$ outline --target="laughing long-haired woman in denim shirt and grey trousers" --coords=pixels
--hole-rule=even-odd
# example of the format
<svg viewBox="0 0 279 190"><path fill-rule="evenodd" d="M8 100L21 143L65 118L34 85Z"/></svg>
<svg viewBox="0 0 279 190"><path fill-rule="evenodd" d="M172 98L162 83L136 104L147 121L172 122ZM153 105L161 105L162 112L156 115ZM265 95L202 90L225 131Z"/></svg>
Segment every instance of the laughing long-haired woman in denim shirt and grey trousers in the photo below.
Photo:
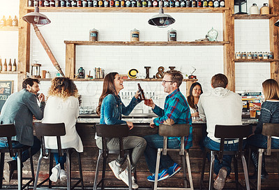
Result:
<svg viewBox="0 0 279 190"><path fill-rule="evenodd" d="M130 101L129 105L126 107L120 96L118 95L121 89L123 89L123 79L118 73L108 73L105 76L103 83L103 92L99 99L99 104L96 112L100 115L100 124L127 124L130 129L133 129L132 122L123 121L121 115L129 115L133 111L137 103L140 103L140 92L138 91L135 96ZM96 138L96 145L102 148L102 138ZM132 172L135 169L137 161L144 153L146 147L146 140L138 136L128 136L123 138L123 148L133 149L132 152ZM111 138L107 140L108 149L119 149L119 139ZM121 159L120 156L109 163L115 177L122 180L128 185L128 171L124 170L121 172L121 165L124 163L125 159ZM132 177L132 187L137 189L138 185L135 183L135 178Z"/></svg>

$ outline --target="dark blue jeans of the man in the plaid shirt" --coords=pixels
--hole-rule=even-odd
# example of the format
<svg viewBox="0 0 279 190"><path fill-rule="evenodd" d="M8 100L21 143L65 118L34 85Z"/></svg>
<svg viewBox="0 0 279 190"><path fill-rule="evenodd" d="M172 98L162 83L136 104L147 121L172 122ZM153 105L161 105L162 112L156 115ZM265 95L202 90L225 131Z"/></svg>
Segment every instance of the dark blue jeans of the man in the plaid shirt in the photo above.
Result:
<svg viewBox="0 0 279 190"><path fill-rule="evenodd" d="M147 143L146 149L144 150L145 160L147 166L149 167L149 171L151 173L155 173L157 149L163 148L163 136L159 136L158 134L155 134L151 136L144 136L144 139L146 140ZM180 148L180 140L178 140L177 138L168 139L167 148L173 148L173 149ZM173 165L174 165L174 161L171 159L171 157L168 154L166 156L163 156L163 154L161 153L159 173L163 169L167 169Z"/></svg>

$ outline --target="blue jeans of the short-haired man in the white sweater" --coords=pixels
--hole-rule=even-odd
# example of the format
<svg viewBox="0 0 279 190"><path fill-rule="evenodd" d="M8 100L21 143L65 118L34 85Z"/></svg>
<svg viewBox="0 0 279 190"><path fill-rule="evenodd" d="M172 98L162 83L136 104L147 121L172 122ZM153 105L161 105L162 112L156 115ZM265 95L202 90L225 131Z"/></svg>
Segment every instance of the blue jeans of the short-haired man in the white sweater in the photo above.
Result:
<svg viewBox="0 0 279 190"><path fill-rule="evenodd" d="M243 147L246 144L246 140L243 140ZM210 138L208 138L206 136L206 138L204 138L204 146L207 147L208 149L212 149L212 150L220 150L220 143L219 142L215 142L214 140L211 140ZM239 142L237 143L232 143L232 144L226 144L224 145L224 151L237 151L239 149ZM209 154L207 154L208 158L209 158ZM215 156L215 160L214 160L214 173L216 173L216 175L218 175L219 170L223 167L225 167L227 169L227 175L229 175L229 173L231 173L231 164L232 164L232 155L223 155L223 162L220 163L220 161L218 160L218 157Z"/></svg>

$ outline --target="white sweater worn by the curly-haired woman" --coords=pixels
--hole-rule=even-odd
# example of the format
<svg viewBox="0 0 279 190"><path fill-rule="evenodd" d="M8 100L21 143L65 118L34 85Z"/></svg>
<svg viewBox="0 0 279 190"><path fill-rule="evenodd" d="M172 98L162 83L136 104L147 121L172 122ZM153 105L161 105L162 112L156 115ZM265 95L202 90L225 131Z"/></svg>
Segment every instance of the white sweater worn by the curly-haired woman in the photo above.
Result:
<svg viewBox="0 0 279 190"><path fill-rule="evenodd" d="M61 136L62 148L75 148L77 152L83 152L83 145L80 136L75 129L75 123L79 116L79 102L74 96L66 100L57 96L47 98L45 105L43 123L64 123L66 136ZM56 137L45 137L45 147L56 149Z"/></svg>

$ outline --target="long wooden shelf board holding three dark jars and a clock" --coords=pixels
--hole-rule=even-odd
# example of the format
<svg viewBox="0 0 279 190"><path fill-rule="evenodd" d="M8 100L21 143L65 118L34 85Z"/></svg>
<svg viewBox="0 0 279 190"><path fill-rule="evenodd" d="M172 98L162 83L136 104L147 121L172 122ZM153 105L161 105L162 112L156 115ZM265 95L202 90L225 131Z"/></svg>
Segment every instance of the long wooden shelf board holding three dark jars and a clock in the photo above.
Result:
<svg viewBox="0 0 279 190"><path fill-rule="evenodd" d="M64 43L75 45L137 45L137 46L188 46L188 45L225 45L226 41L64 41Z"/></svg>

